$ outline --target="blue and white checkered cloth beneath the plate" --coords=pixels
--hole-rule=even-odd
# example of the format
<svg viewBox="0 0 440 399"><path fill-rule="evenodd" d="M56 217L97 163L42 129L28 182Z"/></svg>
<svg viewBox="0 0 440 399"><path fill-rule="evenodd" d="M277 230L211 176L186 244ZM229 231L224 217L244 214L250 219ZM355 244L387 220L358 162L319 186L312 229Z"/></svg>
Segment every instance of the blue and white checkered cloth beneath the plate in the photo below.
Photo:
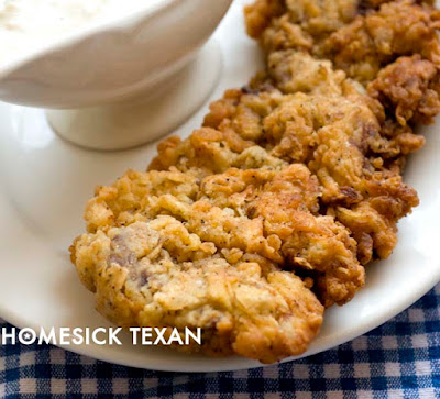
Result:
<svg viewBox="0 0 440 399"><path fill-rule="evenodd" d="M253 370L157 373L50 345L0 345L0 397L440 398L440 285L404 313L350 343Z"/></svg>

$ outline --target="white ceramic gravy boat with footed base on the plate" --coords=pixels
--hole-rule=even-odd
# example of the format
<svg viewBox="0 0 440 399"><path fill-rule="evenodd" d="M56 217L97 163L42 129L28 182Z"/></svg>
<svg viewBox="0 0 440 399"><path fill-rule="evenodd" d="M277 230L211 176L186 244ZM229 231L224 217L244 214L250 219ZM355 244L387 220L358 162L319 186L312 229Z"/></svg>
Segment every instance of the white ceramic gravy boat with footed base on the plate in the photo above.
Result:
<svg viewBox="0 0 440 399"><path fill-rule="evenodd" d="M153 0L0 66L0 100L51 109L58 134L121 149L188 118L217 82L215 44L199 49L232 0Z"/></svg>

